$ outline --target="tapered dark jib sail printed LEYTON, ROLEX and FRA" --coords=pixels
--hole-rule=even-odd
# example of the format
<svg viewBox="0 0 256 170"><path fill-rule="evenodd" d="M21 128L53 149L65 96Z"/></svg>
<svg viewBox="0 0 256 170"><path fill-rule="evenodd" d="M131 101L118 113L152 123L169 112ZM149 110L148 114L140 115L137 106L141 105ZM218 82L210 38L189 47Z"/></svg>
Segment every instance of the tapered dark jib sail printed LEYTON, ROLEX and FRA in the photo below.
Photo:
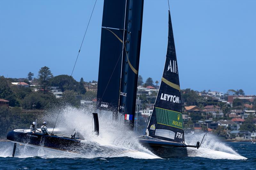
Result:
<svg viewBox="0 0 256 170"><path fill-rule="evenodd" d="M150 137L178 143L184 142L180 81L170 11L164 73L147 131Z"/></svg>

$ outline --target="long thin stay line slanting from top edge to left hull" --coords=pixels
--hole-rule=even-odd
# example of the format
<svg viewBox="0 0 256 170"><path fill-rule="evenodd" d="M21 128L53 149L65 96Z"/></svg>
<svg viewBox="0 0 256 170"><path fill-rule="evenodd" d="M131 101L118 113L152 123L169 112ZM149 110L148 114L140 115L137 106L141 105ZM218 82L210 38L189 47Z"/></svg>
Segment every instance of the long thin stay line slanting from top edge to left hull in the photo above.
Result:
<svg viewBox="0 0 256 170"><path fill-rule="evenodd" d="M92 9L92 13L93 13L93 11L94 11L94 7L95 7L96 2L97 2L97 0L96 0L95 3L94 3L93 9ZM88 24L87 24L87 27L86 27L86 30L85 30L85 33L84 33L84 37L85 37L85 35L86 35L88 26L89 26L89 24L90 24L90 21L91 21L91 18L92 18L92 13L91 13L89 22L88 22ZM80 48L79 48L78 54L77 54L77 56L76 56L76 62L77 62L78 56L79 56L79 54L80 54L80 50L81 50L82 45L83 45L83 42L84 42L84 37L83 37L83 41L82 41L82 43L81 43L81 46L80 46ZM70 75L70 79L69 79L69 82L68 82L68 87L69 87L69 85L70 85L70 83L71 83L71 79L72 79L72 75L73 75L73 72L74 72L74 69L75 69L75 66L76 66L76 62L75 62L75 64L74 64L72 73L71 73L71 75ZM63 96L63 98L62 98L62 103L60 104L59 112L58 112L58 115L57 115L55 124L54 124L54 126L53 126L53 129L52 129L52 134L53 134L53 130L54 130L55 126L56 126L56 122L57 122L58 117L59 117L59 114L60 114L60 109L62 108L62 105L63 105L63 103L64 103L64 99L65 99L65 97L66 97L68 87L67 87L67 89L66 89L66 91L65 91L65 94L64 94L64 96Z"/></svg>

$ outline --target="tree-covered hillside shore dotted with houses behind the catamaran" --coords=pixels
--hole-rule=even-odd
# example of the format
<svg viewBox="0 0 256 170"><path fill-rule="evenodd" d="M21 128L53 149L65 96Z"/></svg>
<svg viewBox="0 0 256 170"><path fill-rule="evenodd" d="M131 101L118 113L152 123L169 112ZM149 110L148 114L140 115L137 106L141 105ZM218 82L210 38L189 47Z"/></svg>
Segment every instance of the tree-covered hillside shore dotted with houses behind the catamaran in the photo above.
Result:
<svg viewBox="0 0 256 170"><path fill-rule="evenodd" d="M45 113L56 110L61 104L78 109L87 106L82 101L95 104L97 81L85 82L81 78L77 82L68 75L53 76L50 68L46 66L38 71L36 78L33 76L34 73L31 72L28 73L27 78L5 78L0 76L0 100L8 101L5 104L0 104L1 139L6 137L7 132L13 129L29 129L31 122L36 119L38 122L42 121L41 119ZM138 84L141 85L140 91L144 88L143 93L137 95L137 98L141 101L140 109L152 109L159 82L154 83L152 78L147 78L144 83L143 78L139 75ZM138 93L140 92L137 91ZM245 112L244 110L256 110L256 98L250 100L239 99L239 96L245 95L242 89L228 90L227 93L223 94L222 100L209 96L210 93L211 90L202 92L191 89L181 90L182 113L187 115L186 119L183 118L184 129L213 133L222 140L227 137L227 131L230 132L234 129L217 125L217 128L212 128L209 131L208 123L209 121L216 123L220 120L231 121L234 117L230 117L230 113L234 112L235 117L240 116L244 121L240 123L239 130L256 131L255 113L247 114L247 117L244 118L241 113L236 113L238 111ZM232 103L227 102L228 96L232 95L237 97ZM63 96L65 96L65 100L63 100ZM193 109L190 111L188 109L190 107L196 108L197 111ZM211 110L208 112L207 109L213 109L215 112ZM218 117L218 115L221 115L221 117ZM145 119L149 119L149 117L145 117L141 112L138 113L138 129L145 130ZM196 128L199 128L200 131L196 131ZM230 140L230 137L226 140Z"/></svg>

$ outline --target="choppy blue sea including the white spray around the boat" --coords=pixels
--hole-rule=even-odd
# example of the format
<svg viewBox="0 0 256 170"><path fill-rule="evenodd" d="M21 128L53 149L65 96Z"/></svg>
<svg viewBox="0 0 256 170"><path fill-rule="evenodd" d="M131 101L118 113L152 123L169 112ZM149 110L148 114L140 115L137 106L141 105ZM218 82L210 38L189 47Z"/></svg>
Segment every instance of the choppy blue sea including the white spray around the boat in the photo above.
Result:
<svg viewBox="0 0 256 170"><path fill-rule="evenodd" d="M88 108L87 108L88 109ZM93 109L93 108L92 108ZM47 151L17 145L12 158L12 142L0 142L0 169L255 169L256 144L251 142L221 142L207 134L199 149L188 148L187 157L161 159L141 146L137 134L127 131L122 123L113 123L99 115L100 135L93 133L91 110L67 107L61 111L57 127L76 128L85 141L97 147L81 154ZM51 124L56 114L49 112L44 120ZM187 144L195 145L204 134L185 134Z"/></svg>

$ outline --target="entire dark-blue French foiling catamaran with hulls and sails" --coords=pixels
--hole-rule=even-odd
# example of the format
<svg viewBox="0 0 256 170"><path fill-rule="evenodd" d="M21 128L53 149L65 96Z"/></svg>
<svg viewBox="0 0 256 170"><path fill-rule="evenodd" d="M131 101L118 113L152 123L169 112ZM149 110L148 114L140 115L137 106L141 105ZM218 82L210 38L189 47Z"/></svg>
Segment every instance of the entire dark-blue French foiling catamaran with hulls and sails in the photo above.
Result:
<svg viewBox="0 0 256 170"><path fill-rule="evenodd" d="M143 0L105 0L103 7L96 112L111 114L114 121L122 120L128 130L134 127L143 3ZM185 144L178 73L169 10L164 72L146 134L138 137L143 146L160 157L186 155L187 147L200 147L199 142ZM97 113L93 113L94 129L99 134ZM52 136L15 129L8 133L7 139L15 143L13 156L16 143L32 147L43 144L48 149L68 152L96 145L65 136L61 129L55 129Z"/></svg>

